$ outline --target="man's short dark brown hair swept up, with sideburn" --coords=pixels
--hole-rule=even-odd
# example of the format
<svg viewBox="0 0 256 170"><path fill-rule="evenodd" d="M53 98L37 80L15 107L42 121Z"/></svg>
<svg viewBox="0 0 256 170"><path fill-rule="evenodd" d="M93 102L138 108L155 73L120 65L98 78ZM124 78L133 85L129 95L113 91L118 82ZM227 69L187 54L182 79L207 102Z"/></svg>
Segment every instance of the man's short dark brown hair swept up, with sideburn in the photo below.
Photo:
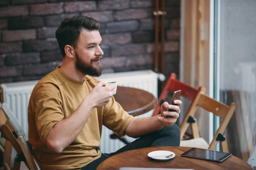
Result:
<svg viewBox="0 0 256 170"><path fill-rule="evenodd" d="M88 31L99 31L99 26L100 23L91 17L74 16L65 18L55 32L62 56L65 57L64 47L66 45L71 45L76 48L79 35L83 29Z"/></svg>

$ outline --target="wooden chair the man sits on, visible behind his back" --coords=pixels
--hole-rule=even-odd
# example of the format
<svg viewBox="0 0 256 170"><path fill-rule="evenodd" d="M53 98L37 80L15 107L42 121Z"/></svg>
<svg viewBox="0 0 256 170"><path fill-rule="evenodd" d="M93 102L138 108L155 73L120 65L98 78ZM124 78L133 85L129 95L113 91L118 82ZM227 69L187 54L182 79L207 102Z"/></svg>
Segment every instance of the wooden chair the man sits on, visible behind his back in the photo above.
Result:
<svg viewBox="0 0 256 170"><path fill-rule="evenodd" d="M3 135L3 137L6 139L6 141L9 141L17 151L17 156L15 157L13 170L20 170L20 163L22 161L26 164L29 170L38 170L38 167L35 164L35 161L32 157L31 152L30 151L28 152L29 147L27 143L24 144L23 142L25 141L23 136L16 137L16 135L12 133L12 131L7 125L2 125L0 127L0 132ZM10 167L7 165L6 169L10 170Z"/></svg>

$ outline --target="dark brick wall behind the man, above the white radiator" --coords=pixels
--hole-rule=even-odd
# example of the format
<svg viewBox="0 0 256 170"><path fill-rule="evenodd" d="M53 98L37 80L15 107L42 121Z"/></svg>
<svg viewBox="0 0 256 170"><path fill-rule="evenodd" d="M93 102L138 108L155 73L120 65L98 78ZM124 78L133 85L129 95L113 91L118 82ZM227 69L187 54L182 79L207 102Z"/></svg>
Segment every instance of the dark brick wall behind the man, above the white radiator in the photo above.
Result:
<svg viewBox="0 0 256 170"><path fill-rule="evenodd" d="M40 79L61 63L65 17L101 22L103 72L154 68L153 0L0 0L0 83ZM166 76L179 70L180 0L166 0Z"/></svg>

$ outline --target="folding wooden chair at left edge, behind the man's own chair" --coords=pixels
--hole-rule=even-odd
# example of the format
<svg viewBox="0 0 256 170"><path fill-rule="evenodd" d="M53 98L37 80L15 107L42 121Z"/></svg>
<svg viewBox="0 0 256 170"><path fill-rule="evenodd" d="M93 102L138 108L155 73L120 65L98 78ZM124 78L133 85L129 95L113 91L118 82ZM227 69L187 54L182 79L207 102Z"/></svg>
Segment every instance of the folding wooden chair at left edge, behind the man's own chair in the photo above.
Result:
<svg viewBox="0 0 256 170"><path fill-rule="evenodd" d="M13 116L12 111L9 109L6 103L3 103L2 108L0 108L0 127L2 127L2 125L7 125L16 138L19 136L19 134L25 135L22 127L20 127L17 119ZM9 140L5 140L5 144L3 144L1 150L3 150L3 167L8 169L10 168L12 157L12 144Z"/></svg>

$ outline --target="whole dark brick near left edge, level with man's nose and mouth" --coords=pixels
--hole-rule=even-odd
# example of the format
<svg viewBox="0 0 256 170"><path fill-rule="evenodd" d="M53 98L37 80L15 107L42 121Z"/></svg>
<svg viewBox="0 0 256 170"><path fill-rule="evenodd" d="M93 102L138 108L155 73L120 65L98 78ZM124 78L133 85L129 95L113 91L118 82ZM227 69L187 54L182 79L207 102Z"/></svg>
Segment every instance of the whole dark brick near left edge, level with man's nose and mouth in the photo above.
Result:
<svg viewBox="0 0 256 170"><path fill-rule="evenodd" d="M24 65L40 62L40 53L15 53L7 54L5 57L6 65Z"/></svg>

